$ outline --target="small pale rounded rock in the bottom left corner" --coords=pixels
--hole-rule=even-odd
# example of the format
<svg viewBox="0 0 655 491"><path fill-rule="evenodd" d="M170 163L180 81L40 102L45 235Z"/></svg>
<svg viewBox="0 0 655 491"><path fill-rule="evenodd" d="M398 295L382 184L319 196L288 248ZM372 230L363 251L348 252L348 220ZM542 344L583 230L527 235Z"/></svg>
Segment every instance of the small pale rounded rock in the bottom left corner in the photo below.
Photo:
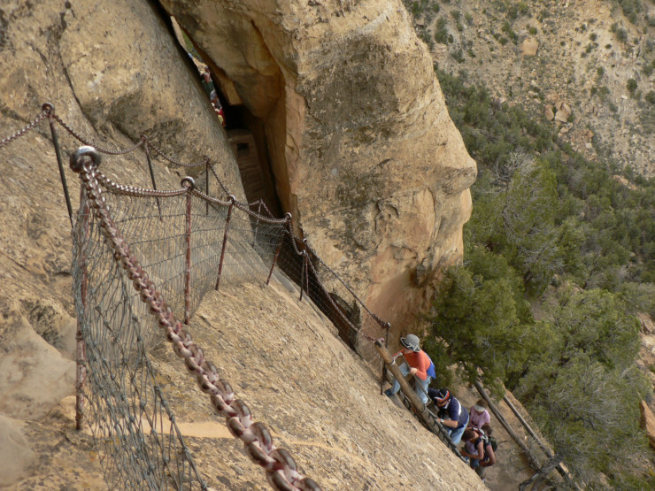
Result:
<svg viewBox="0 0 655 491"><path fill-rule="evenodd" d="M0 414L0 487L17 482L35 458L19 422Z"/></svg>

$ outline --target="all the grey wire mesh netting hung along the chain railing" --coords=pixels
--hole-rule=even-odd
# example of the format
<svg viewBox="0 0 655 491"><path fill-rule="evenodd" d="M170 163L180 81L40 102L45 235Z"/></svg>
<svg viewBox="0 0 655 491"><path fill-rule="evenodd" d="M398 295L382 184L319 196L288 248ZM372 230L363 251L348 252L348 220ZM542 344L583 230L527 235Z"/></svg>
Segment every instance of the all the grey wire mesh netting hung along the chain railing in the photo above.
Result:
<svg viewBox="0 0 655 491"><path fill-rule="evenodd" d="M67 136L87 143L46 106L49 104L27 127L0 142L0 148L46 118L62 125ZM124 158L118 155L144 151L140 146L147 151L149 145L144 137L131 149L100 151ZM55 148L59 152L56 142ZM72 149L73 145L63 143L62 148ZM170 157L159 157L176 164ZM130 158L134 161L135 156ZM205 161L204 165L219 180L219 192L227 194L211 163ZM84 420L94 435L110 488L205 489L207 484L175 424L150 362L149 352L163 339L162 330L152 315L152 305L143 302L121 265L106 224L101 226L97 200L111 215L119 240L128 245L176 318L188 321L204 295L214 288L267 282L275 269L296 283L301 298L315 303L334 323L343 341L375 371L379 368L371 341L386 334L385 323L290 232L290 216L274 219L261 203L238 203L233 196L223 196L225 201L220 201L192 184L158 193L113 184L99 171L95 177L102 196L93 196L89 188L81 193L73 226L73 296L83 341L78 349L84 349L78 352L83 362L78 372L86 372L81 386ZM69 203L63 175L62 180ZM209 183L202 183L202 188L209 188Z"/></svg>

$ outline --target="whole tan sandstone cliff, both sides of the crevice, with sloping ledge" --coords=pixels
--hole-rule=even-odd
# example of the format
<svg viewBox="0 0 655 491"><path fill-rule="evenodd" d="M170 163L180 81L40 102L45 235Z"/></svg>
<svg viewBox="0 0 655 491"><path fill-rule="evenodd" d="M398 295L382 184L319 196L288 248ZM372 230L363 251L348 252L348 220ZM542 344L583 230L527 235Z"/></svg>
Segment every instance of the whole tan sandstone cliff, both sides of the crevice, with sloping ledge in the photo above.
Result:
<svg viewBox="0 0 655 491"><path fill-rule="evenodd" d="M212 12L194 17L189 6L185 17L180 7L166 7L200 46L198 26ZM256 19L243 17L246 10ZM266 121L281 202L297 211L298 226L326 261L357 280L373 310L402 318L402 309L386 304L390 295L397 294L397 303L420 303L419 285L429 283L440 262L460 257L470 208L466 188L475 173L405 12L399 4L373 3L317 6L308 17L296 4L231 4L230 12L235 15L224 28L231 39L239 40L243 30L250 37L238 44L241 62L225 65L225 83L233 81L253 117ZM277 58L265 56L265 48ZM211 54L212 44L204 50ZM220 60L212 55L210 61L218 67ZM237 76L237 68L246 74ZM346 88L357 88L356 95ZM148 134L183 162L207 155L244 199L227 135L156 4L1 4L3 137L24 127L46 101L105 148L129 147ZM78 143L61 127L58 134L66 157ZM98 456L85 433L73 432L67 398L75 326L70 222L50 138L43 121L0 149L0 486L99 488ZM150 187L143 155L108 158L103 169L121 183ZM74 209L79 185L65 173ZM185 173L155 162L159 188L178 188ZM387 489L401 482L482 488L433 435L379 394L331 327L306 300L297 303L293 287L249 288L260 289L207 299L194 335L292 449L303 472L326 488ZM270 303L266 295L273 295ZM221 331L227 337L216 335ZM196 407L189 380L175 385L179 360L166 350L154 355L181 423L190 425L186 433L205 478L221 489L264 487L263 472L241 445L222 441L222 424Z"/></svg>

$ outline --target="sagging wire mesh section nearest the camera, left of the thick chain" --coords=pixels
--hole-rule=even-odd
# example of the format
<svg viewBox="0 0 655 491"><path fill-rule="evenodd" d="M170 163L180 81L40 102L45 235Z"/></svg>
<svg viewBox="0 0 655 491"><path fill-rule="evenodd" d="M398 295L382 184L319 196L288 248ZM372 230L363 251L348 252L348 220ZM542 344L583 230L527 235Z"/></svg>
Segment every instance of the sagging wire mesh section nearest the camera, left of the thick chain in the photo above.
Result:
<svg viewBox="0 0 655 491"><path fill-rule="evenodd" d="M83 197L73 292L86 348L85 424L104 479L111 489L205 489L150 364L158 326L88 210Z"/></svg>

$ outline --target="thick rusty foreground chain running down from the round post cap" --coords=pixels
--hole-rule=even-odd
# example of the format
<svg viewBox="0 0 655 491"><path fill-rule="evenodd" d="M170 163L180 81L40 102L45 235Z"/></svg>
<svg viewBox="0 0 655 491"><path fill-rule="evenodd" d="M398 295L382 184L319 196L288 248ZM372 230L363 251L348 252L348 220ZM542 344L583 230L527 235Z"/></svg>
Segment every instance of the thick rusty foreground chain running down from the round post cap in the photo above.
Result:
<svg viewBox="0 0 655 491"><path fill-rule="evenodd" d="M220 378L216 366L205 359L203 349L193 341L191 334L175 318L173 311L112 221L100 183L96 179L97 160L93 152L92 148L82 147L77 150L71 157L71 168L73 172L80 174L94 214L100 221L102 233L114 250L115 259L127 272L143 303L148 304L150 313L158 318L158 324L166 331L166 339L173 345L175 355L181 357L189 372L195 375L198 387L205 394L210 395L212 407L226 419L230 433L243 441L246 452L253 462L265 469L266 479L274 489L320 490L313 479L304 477L298 472L297 464L288 450L275 447L266 426L252 420L246 403L235 399L235 393L229 382ZM85 162L85 157L91 157L91 161Z"/></svg>

